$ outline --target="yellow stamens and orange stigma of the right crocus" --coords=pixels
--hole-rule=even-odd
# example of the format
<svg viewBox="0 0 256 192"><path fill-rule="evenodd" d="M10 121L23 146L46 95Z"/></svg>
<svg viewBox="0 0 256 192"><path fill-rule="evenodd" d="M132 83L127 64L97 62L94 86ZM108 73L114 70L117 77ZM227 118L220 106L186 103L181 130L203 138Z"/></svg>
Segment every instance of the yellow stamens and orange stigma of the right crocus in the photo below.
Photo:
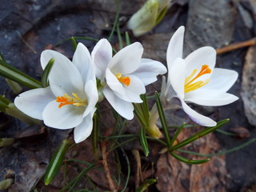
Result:
<svg viewBox="0 0 256 192"><path fill-rule="evenodd" d="M192 73L185 79L185 86L184 86L185 93L188 93L191 90L197 90L198 88L205 86L208 82L210 82L210 78L195 82L195 80L200 78L203 74L211 73L209 66L203 65L201 67L200 72L194 77L194 74L196 74L196 72L197 72L197 69L193 70Z"/></svg>

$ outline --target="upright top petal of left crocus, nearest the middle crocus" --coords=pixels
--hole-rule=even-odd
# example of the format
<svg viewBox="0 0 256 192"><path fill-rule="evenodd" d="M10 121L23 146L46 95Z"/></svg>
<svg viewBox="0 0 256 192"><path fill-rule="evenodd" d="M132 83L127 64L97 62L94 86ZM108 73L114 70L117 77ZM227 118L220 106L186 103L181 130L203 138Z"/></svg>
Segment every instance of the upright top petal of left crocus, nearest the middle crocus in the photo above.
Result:
<svg viewBox="0 0 256 192"><path fill-rule="evenodd" d="M89 50L81 42L78 43L72 62L74 63L74 66L78 68L84 84L90 80L96 82L93 62L90 58Z"/></svg>

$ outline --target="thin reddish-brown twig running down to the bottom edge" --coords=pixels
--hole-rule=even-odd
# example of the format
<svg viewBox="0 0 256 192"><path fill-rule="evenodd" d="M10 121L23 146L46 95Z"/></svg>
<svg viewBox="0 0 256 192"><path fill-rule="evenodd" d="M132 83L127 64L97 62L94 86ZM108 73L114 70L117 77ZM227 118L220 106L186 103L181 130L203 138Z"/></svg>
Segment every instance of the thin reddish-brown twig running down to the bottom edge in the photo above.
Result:
<svg viewBox="0 0 256 192"><path fill-rule="evenodd" d="M106 173L106 179L110 185L110 190L113 192L118 192L118 190L116 189L116 186L114 185L114 182L111 178L110 168L109 168L109 165L107 162L106 142L102 142L102 159L103 159L104 170Z"/></svg>

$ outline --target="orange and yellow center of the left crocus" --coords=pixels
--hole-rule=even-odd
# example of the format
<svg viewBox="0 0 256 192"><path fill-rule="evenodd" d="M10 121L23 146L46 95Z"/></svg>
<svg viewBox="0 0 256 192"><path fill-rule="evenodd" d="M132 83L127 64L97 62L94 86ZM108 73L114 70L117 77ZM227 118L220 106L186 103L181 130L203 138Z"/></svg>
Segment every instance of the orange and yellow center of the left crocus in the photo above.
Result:
<svg viewBox="0 0 256 192"><path fill-rule="evenodd" d="M72 93L74 97L70 97L68 94L64 94L61 97L56 98L56 102L59 102L58 108L66 105L73 105L73 106L87 106L87 101L82 100L79 98L77 94Z"/></svg>

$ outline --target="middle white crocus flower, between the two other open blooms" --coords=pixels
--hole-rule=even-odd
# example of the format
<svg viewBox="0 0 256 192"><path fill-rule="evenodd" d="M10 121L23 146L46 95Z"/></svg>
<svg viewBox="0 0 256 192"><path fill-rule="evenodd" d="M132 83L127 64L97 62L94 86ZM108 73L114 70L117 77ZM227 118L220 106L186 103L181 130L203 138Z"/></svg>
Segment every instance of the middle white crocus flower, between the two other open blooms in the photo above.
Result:
<svg viewBox="0 0 256 192"><path fill-rule="evenodd" d="M132 102L142 102L140 94L145 94L145 86L155 82L158 74L166 73L161 62L142 58L142 52L142 45L134 42L112 58L110 42L103 38L91 53L102 93L114 110L128 120L134 118Z"/></svg>

